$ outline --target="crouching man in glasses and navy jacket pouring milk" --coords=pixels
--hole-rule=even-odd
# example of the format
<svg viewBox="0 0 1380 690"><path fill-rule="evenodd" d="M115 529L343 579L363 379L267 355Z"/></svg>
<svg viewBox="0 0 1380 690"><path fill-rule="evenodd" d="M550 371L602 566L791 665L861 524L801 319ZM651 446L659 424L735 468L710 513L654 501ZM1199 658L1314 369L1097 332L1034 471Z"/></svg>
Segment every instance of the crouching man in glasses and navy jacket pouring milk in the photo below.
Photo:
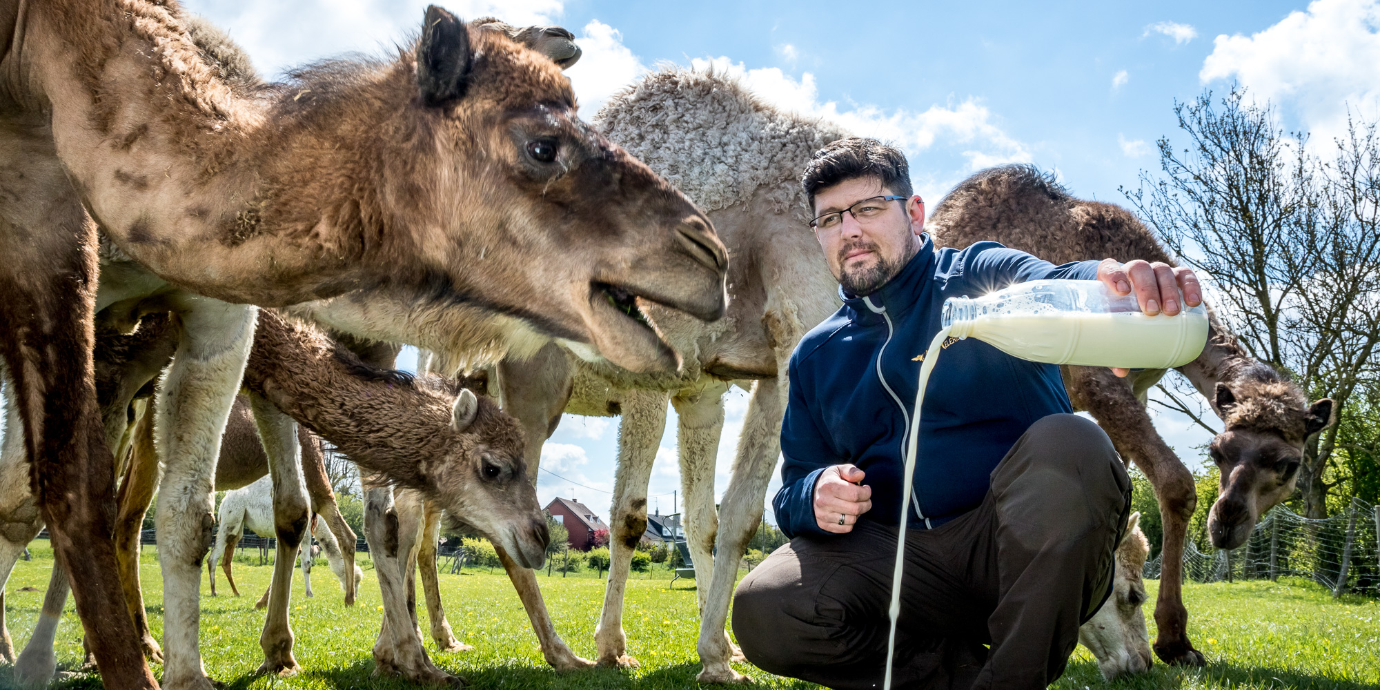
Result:
<svg viewBox="0 0 1380 690"><path fill-rule="evenodd" d="M1202 291L1163 264L1056 266L992 241L936 251L905 157L875 139L825 146L802 185L843 308L791 356L773 501L791 544L738 585L733 631L762 669L872 689L886 671L907 402L944 299L1097 279L1134 290L1147 315L1174 315ZM1126 469L1071 414L1057 366L974 338L944 344L923 404L894 687L1045 687L1111 592Z"/></svg>

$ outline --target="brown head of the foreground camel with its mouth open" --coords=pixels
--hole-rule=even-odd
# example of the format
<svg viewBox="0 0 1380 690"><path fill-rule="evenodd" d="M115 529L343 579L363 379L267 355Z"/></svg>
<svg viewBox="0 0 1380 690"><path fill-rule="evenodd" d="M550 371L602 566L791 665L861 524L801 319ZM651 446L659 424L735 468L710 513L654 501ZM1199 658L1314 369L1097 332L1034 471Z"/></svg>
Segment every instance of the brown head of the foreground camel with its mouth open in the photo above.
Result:
<svg viewBox="0 0 1380 690"><path fill-rule="evenodd" d="M323 95L287 97L282 109L374 92L355 86L366 76L352 69L297 73L293 94ZM342 210L357 208L364 247L378 243L364 262L375 275L357 286L402 295L428 320L437 310L515 319L633 371L679 366L639 305L723 315L727 254L708 217L581 121L545 54L433 6L414 54L384 72L381 95L396 101L406 88L407 98L368 126L370 150L348 155L375 185ZM415 342L424 328L392 339Z"/></svg>

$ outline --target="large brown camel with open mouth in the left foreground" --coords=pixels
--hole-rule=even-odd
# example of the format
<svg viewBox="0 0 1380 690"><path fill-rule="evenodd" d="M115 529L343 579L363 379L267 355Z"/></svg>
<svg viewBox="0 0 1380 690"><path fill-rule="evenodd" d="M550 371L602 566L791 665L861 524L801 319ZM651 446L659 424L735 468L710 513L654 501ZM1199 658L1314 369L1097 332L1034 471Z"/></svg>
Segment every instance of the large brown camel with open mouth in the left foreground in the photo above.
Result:
<svg viewBox="0 0 1380 690"><path fill-rule="evenodd" d="M464 302L502 323L457 338L502 335L516 319L632 368L676 364L629 316L636 297L709 319L724 309L726 257L702 214L584 127L559 68L501 32L472 33L433 7L417 50L391 62L333 62L287 86L237 90L207 66L174 3L4 8L0 29L23 40L0 57L0 185L17 200L0 210L10 259L0 346L40 511L77 582L108 687L156 683L120 614L102 537L115 520L115 468L97 421L97 239L84 210L137 261L208 297L294 304L363 287L440 310ZM410 339L396 322L406 317L391 338ZM253 319L237 323L218 339L218 366L243 363L247 346L235 344L247 344ZM229 408L229 396L207 399ZM160 493L159 519L161 497L185 498L167 508L185 530L200 529L188 541L200 548L163 563L166 578L195 591L215 454L190 455L203 469ZM168 614L193 642L170 653L164 682L208 687L196 611Z"/></svg>

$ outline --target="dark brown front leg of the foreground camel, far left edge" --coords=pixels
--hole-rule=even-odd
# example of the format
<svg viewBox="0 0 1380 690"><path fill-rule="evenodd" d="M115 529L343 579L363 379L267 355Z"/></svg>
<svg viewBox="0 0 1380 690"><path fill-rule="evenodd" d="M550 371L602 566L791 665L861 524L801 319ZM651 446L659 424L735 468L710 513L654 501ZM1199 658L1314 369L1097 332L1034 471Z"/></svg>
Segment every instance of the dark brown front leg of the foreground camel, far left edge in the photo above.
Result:
<svg viewBox="0 0 1380 690"><path fill-rule="evenodd" d="M97 228L46 121L7 120L0 186L0 353L32 489L110 690L155 689L116 573L115 458L95 396ZM51 651L48 653L51 654Z"/></svg>

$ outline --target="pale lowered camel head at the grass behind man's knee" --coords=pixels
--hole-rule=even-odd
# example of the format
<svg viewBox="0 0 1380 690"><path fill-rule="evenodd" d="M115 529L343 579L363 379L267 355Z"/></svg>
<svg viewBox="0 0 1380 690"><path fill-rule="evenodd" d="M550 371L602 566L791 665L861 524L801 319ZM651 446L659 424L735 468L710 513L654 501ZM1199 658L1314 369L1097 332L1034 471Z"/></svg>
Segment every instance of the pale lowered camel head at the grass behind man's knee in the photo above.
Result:
<svg viewBox="0 0 1380 690"><path fill-rule="evenodd" d="M1132 513L1116 545L1116 573L1112 593L1101 609L1078 628L1078 642L1097 657L1103 678L1150 671L1150 633L1145 629L1145 584L1140 571L1150 555L1150 542L1140 531L1140 513Z"/></svg>

